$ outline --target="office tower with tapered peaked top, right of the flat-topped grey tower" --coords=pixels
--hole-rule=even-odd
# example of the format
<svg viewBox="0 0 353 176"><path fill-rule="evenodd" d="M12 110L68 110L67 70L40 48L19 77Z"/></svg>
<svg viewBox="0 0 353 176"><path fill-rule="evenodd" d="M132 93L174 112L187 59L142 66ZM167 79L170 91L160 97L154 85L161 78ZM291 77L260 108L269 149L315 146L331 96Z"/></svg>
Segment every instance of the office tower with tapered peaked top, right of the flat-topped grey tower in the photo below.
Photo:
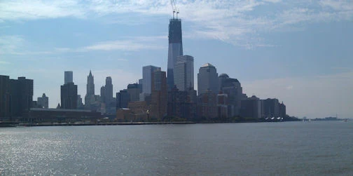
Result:
<svg viewBox="0 0 353 176"><path fill-rule="evenodd" d="M214 94L219 93L219 80L216 67L206 63L202 65L198 73L198 95L212 91Z"/></svg>

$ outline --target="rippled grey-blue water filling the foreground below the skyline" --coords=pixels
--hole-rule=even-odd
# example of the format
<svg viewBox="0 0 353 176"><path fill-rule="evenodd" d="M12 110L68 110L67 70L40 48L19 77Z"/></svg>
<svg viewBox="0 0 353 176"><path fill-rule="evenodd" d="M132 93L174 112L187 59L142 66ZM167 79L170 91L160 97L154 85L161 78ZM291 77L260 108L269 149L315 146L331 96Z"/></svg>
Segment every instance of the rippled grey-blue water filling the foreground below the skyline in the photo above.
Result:
<svg viewBox="0 0 353 176"><path fill-rule="evenodd" d="M353 175L353 123L0 128L0 175Z"/></svg>

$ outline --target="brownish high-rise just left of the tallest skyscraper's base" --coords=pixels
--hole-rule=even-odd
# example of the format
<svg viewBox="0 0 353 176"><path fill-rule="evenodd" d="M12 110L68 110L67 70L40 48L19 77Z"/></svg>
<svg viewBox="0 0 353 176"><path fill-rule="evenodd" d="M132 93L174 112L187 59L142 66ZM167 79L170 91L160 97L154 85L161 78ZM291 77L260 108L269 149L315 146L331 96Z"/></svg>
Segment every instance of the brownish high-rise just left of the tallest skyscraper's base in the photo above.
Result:
<svg viewBox="0 0 353 176"><path fill-rule="evenodd" d="M151 94L151 117L163 119L167 116L167 79L165 72L153 72Z"/></svg>

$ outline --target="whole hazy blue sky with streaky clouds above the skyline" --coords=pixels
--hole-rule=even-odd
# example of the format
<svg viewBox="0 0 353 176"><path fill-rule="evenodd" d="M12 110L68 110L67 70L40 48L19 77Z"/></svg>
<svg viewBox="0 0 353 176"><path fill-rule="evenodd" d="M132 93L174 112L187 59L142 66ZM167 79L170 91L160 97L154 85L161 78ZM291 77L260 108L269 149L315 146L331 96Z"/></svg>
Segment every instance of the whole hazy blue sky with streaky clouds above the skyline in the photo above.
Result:
<svg viewBox="0 0 353 176"><path fill-rule="evenodd" d="M244 93L276 97L287 114L353 117L353 1L177 1L184 54L198 69L212 63ZM167 68L167 1L1 1L0 74L34 79L34 100L60 102L64 71L85 96L106 76L114 96ZM197 79L195 79L197 83ZM195 85L195 88L197 86Z"/></svg>

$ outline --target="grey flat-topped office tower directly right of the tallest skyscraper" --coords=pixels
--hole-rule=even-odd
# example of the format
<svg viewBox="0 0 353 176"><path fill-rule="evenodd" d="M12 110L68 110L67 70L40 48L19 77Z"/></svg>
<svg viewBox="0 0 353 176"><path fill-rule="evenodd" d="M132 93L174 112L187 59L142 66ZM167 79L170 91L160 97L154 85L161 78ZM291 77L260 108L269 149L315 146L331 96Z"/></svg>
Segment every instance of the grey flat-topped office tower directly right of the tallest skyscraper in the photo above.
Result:
<svg viewBox="0 0 353 176"><path fill-rule="evenodd" d="M174 84L180 91L194 87L193 56L181 55L174 63Z"/></svg>

